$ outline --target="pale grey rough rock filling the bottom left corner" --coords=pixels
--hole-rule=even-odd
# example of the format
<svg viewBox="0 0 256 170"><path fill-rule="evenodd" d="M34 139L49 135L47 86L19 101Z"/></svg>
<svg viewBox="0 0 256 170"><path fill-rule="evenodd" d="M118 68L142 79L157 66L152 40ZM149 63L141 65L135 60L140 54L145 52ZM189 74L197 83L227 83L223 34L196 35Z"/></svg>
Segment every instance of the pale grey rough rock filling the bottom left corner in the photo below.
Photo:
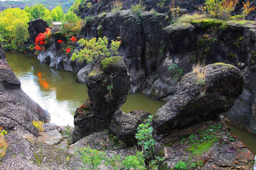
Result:
<svg viewBox="0 0 256 170"><path fill-rule="evenodd" d="M57 149L22 130L10 131L6 155L0 158L0 169L5 170L78 170L82 162L64 149ZM67 156L69 159L67 159Z"/></svg>

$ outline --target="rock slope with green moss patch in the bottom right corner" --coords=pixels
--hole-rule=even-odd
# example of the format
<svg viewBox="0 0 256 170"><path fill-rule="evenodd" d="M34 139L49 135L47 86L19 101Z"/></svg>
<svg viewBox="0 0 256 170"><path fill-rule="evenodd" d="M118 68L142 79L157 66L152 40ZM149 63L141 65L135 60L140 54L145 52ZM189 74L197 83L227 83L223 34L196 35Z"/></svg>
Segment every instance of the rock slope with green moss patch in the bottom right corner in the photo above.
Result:
<svg viewBox="0 0 256 170"><path fill-rule="evenodd" d="M203 148L205 147L205 148ZM179 161L204 170L253 169L254 155L230 132L223 116L213 121L176 128L157 141L156 154L164 158L160 169L172 169Z"/></svg>

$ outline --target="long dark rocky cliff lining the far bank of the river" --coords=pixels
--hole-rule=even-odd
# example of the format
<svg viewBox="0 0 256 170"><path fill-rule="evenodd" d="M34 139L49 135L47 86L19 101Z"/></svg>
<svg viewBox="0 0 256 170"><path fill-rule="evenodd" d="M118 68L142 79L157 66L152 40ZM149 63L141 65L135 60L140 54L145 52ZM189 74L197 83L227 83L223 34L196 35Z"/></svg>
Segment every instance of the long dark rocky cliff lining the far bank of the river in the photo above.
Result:
<svg viewBox="0 0 256 170"><path fill-rule="evenodd" d="M107 9L107 6L92 3L95 4L92 9ZM153 2L150 1L149 4L151 3ZM123 3L127 6L129 4L131 5ZM180 10L180 14L187 12L186 9ZM97 14L95 11L93 13ZM88 13L89 16L91 14ZM152 99L169 101L178 82L184 74L191 71L193 64L224 62L238 67L245 78L244 90L225 116L238 127L256 133L253 90L256 47L255 25L252 22L187 16L170 24L173 17L169 12L144 12L140 16L130 10L93 16L94 14L87 19L80 37L106 36L108 40L122 37L119 54L124 57L132 79L130 92L142 91ZM54 36L59 36L58 29L55 29L52 29L53 39L46 51L39 52L38 58L41 62L50 64L50 67L78 73L78 82L86 83L92 65L71 61L70 56L60 51L56 42L58 38L54 39ZM241 117L240 121L238 117Z"/></svg>

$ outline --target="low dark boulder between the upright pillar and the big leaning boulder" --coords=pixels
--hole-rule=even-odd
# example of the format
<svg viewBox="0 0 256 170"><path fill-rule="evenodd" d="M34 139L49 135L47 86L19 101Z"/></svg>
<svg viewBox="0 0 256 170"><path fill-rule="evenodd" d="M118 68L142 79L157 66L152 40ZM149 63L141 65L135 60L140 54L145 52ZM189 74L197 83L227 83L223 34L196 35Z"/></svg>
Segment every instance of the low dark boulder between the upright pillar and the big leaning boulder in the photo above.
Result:
<svg viewBox="0 0 256 170"><path fill-rule="evenodd" d="M109 130L126 145L133 146L138 143L135 138L138 126L150 115L144 110L135 110L130 113L122 113L114 116Z"/></svg>

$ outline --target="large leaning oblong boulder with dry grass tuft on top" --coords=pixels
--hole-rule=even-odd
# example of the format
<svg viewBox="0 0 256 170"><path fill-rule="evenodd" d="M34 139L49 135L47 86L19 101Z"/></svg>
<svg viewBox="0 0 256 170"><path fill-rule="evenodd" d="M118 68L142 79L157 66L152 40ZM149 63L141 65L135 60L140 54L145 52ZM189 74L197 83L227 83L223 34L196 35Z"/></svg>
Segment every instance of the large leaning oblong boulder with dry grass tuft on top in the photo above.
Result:
<svg viewBox="0 0 256 170"><path fill-rule="evenodd" d="M156 138L176 127L211 120L233 106L243 90L240 70L229 64L216 63L207 65L205 71L205 94L200 93L202 85L197 75L187 73L178 84L172 99L154 114Z"/></svg>

